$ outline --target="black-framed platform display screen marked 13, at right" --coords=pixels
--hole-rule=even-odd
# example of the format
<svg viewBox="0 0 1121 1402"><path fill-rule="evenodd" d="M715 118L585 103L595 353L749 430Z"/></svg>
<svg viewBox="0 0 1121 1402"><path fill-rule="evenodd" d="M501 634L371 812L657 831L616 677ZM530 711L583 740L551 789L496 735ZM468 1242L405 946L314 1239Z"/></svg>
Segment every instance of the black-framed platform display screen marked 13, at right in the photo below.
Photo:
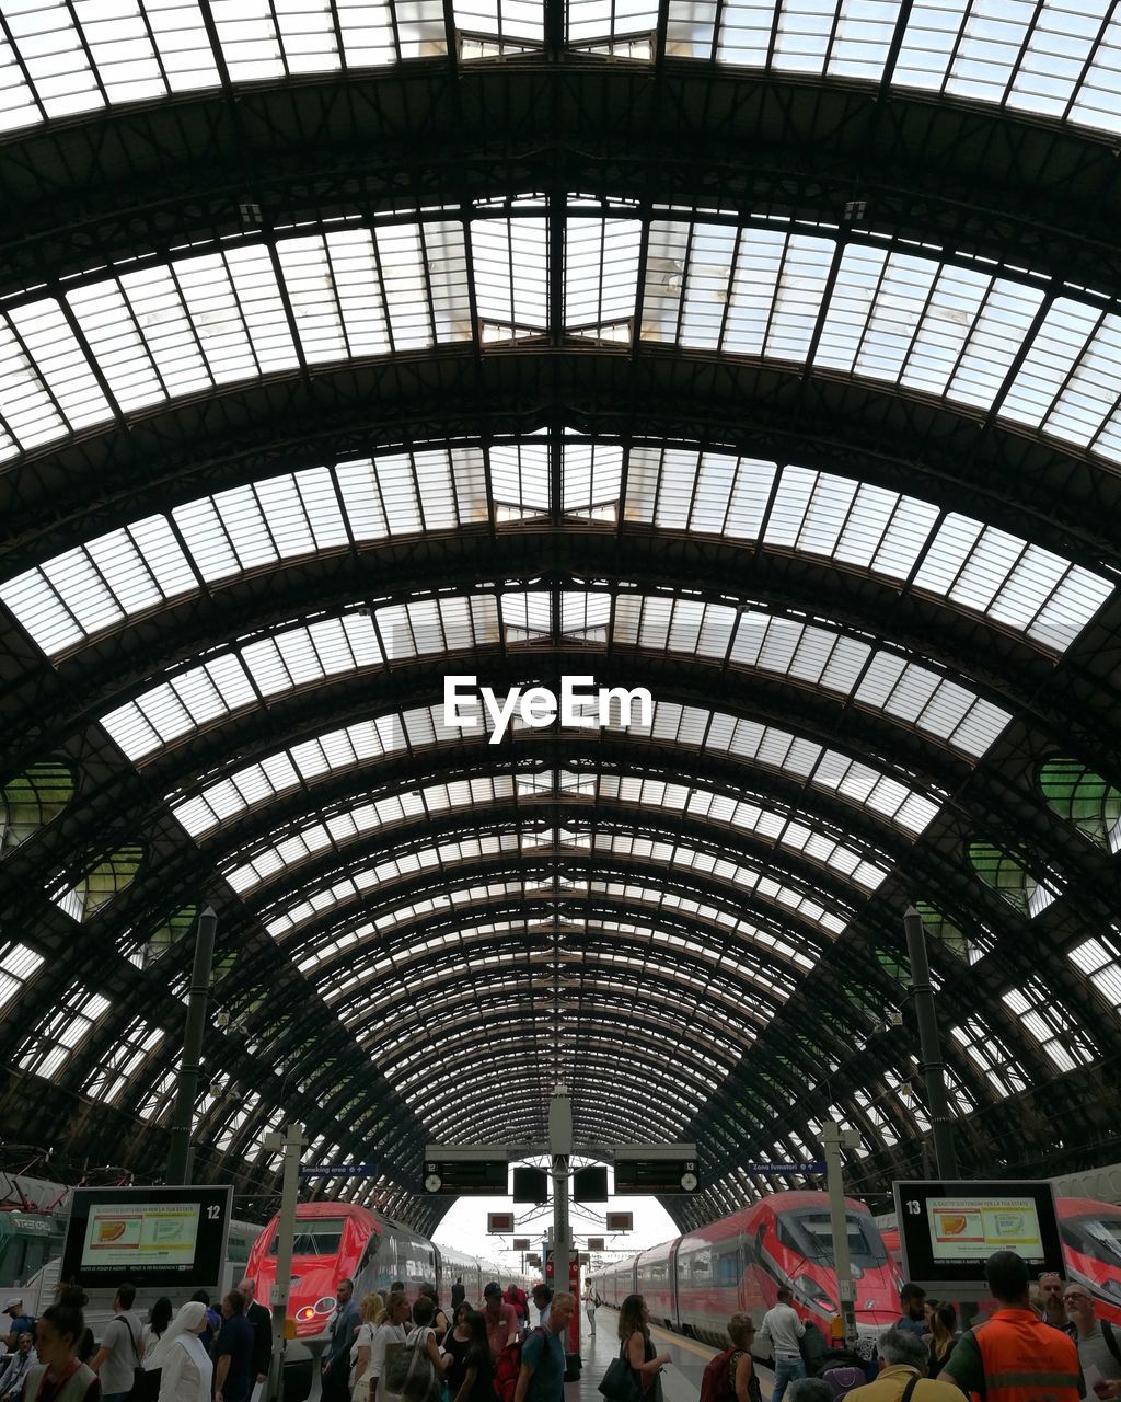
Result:
<svg viewBox="0 0 1121 1402"><path fill-rule="evenodd" d="M985 1262L1015 1251L1033 1276L1062 1272L1050 1182L895 1183L904 1274L928 1287L985 1290Z"/></svg>

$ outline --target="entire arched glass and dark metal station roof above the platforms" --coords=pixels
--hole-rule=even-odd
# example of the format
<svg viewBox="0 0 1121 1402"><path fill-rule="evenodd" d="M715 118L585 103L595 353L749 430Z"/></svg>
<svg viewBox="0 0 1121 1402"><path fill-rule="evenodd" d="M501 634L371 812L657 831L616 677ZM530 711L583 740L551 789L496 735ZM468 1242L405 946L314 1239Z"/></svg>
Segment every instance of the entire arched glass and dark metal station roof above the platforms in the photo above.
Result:
<svg viewBox="0 0 1121 1402"><path fill-rule="evenodd" d="M682 1225L827 1117L922 1172L909 903L963 1169L1115 1122L1117 24L0 0L21 1141L163 1169L207 901L254 1197L297 1113L430 1232L433 1056L471 1133L695 1138Z"/></svg>

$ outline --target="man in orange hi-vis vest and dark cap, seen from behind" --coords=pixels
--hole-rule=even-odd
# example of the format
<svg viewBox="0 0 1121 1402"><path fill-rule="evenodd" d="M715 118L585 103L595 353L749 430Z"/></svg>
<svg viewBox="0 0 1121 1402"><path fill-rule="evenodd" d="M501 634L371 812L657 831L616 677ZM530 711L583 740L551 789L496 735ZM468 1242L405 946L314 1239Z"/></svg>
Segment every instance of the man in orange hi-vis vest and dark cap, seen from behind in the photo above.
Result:
<svg viewBox="0 0 1121 1402"><path fill-rule="evenodd" d="M1027 1265L1015 1251L998 1251L985 1262L985 1280L1000 1308L963 1333L939 1381L984 1402L1080 1402L1078 1349L1031 1308Z"/></svg>

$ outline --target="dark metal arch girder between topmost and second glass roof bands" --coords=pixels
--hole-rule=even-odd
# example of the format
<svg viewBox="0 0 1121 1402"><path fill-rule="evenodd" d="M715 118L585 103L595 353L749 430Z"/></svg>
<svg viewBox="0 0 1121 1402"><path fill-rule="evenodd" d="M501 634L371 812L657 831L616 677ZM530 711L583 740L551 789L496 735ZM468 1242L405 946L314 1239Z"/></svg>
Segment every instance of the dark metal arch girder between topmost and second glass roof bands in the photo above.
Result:
<svg viewBox="0 0 1121 1402"><path fill-rule="evenodd" d="M0 254L8 279L42 283L240 233L247 199L294 224L563 188L825 222L859 198L880 231L1118 285L1104 137L944 97L881 102L831 80L575 53L458 69L440 57L15 133L0 189L28 234Z"/></svg>

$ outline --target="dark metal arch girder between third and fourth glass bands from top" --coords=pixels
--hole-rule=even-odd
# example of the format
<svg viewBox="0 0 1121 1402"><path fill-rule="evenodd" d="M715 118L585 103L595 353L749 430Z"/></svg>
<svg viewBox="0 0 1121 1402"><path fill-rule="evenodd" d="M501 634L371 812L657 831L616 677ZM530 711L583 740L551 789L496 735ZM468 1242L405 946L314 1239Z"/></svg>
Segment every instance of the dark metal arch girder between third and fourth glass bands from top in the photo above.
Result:
<svg viewBox="0 0 1121 1402"><path fill-rule="evenodd" d="M660 557L664 557L661 569ZM496 586L492 579L503 583ZM758 611L793 610L802 617L824 617L888 646L907 648L916 658L935 659L967 676L989 698L1036 718L1041 728L1052 719L1071 723L1061 711L1065 695L1079 715L1090 709L1094 718L1101 716L1106 733L1114 730L1108 723L1110 708L1121 721L1121 695L1115 686L1108 686L1111 679L1094 677L1078 666L1076 658L1057 660L1027 638L982 617L813 559L649 530L621 536L531 527L492 540L481 527L474 533L460 531L453 540L418 541L408 561L398 557L392 565L388 561L383 565L378 551L369 550L311 557L254 572L217 593L200 592L123 621L71 649L55 663L59 690L73 695L71 677L80 676L81 694L71 701L73 715L83 714L74 705L77 701L87 714L94 708L97 714L130 700L151 684L154 674L202 652L213 653L227 638L263 637L273 628L291 627L293 620L307 613L348 613L362 600L384 606L447 594L453 589L462 594L504 593L520 582L523 587L532 582L534 589L618 590L621 599L643 590L661 596L687 592L712 603L736 601ZM827 610L823 597L828 599ZM1121 601L1106 608L1110 617L1103 621L1099 638L1110 635L1110 624L1121 631ZM1086 652L1097 656L1094 641L1087 641ZM18 698L38 691L41 670L39 660L38 666L28 663L22 684L10 677L8 729L15 733ZM35 711L36 723L42 723L41 708ZM74 721L64 718L59 723Z"/></svg>

